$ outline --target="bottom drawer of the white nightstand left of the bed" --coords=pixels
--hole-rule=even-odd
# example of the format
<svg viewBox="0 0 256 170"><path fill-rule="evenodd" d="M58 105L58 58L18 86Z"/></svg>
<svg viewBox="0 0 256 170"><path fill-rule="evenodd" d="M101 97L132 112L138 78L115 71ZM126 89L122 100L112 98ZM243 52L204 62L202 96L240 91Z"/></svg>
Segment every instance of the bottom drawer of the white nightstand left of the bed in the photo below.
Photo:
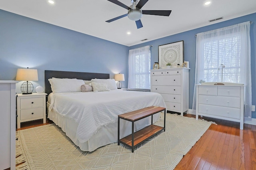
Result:
<svg viewBox="0 0 256 170"><path fill-rule="evenodd" d="M35 117L43 118L43 116L44 116L44 108L43 107L20 110L20 120L32 119Z"/></svg>

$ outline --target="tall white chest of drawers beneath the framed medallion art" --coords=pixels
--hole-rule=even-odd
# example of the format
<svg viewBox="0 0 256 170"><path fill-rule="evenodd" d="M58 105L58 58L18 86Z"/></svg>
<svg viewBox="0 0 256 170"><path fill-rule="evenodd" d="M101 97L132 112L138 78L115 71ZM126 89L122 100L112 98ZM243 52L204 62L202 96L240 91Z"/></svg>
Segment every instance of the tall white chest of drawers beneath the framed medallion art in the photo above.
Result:
<svg viewBox="0 0 256 170"><path fill-rule="evenodd" d="M164 98L166 109L179 112L188 110L188 71L190 68L166 68L150 70L151 92Z"/></svg>

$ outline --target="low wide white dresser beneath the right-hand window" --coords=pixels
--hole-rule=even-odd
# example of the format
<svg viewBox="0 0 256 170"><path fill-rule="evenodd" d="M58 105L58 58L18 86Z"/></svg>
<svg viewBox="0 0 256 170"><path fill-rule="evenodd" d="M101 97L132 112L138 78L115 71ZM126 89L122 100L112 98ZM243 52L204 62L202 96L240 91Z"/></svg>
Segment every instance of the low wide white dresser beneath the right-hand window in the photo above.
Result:
<svg viewBox="0 0 256 170"><path fill-rule="evenodd" d="M198 115L240 122L244 127L244 86L196 85Z"/></svg>

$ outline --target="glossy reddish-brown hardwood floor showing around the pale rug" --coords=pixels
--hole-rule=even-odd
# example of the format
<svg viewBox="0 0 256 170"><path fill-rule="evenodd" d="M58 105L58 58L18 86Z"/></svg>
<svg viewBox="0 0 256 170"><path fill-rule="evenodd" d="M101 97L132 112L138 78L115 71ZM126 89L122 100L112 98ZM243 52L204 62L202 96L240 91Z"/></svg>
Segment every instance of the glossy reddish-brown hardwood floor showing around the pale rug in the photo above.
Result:
<svg viewBox="0 0 256 170"><path fill-rule="evenodd" d="M256 170L256 125L244 124L244 130L240 130L237 122L203 118L218 125L210 125L175 170ZM49 123L52 121L45 124ZM42 120L26 122L20 129L45 124Z"/></svg>

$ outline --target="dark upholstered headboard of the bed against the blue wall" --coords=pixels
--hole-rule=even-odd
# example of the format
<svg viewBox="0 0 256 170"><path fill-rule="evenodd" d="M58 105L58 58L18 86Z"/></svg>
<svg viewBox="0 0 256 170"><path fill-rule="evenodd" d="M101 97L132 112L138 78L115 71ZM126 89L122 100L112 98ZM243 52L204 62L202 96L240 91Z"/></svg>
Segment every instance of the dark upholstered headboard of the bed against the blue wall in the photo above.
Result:
<svg viewBox="0 0 256 170"><path fill-rule="evenodd" d="M70 72L70 71L52 71L44 70L44 86L45 93L48 95L52 92L49 78L77 78L82 80L91 80L92 78L108 79L109 74L106 73L92 73L92 72Z"/></svg>

